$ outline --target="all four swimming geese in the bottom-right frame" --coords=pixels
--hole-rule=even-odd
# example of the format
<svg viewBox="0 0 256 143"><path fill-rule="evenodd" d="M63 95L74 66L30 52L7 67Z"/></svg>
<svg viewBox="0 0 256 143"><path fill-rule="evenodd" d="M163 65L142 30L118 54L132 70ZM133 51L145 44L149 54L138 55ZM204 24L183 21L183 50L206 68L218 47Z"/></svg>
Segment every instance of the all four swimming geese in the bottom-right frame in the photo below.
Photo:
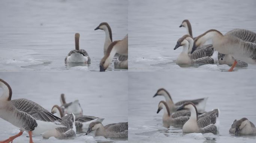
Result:
<svg viewBox="0 0 256 143"><path fill-rule="evenodd" d="M162 109L164 114L162 121L164 125L183 125L183 133L213 133L219 130L218 108L205 112L205 105L208 98L179 101L174 104L171 95L167 90L161 88L153 97L164 96L165 101L158 104L157 113ZM232 134L256 134L255 125L247 118L234 120L229 133Z"/></svg>

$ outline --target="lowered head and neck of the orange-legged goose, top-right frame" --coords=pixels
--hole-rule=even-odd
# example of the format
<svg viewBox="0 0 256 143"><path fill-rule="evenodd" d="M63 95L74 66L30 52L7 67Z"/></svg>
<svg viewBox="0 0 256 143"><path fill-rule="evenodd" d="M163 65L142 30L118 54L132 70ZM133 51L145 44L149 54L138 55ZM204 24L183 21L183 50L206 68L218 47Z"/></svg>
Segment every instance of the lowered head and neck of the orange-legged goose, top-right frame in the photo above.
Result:
<svg viewBox="0 0 256 143"><path fill-rule="evenodd" d="M200 45L203 45L206 41L213 39L216 35L220 35L223 36L222 33L220 33L219 31L215 30L215 29L211 29L208 30L206 32L204 32L203 34L197 36L194 39L194 44L193 44L193 48L191 50L191 54L196 50L196 48Z"/></svg>

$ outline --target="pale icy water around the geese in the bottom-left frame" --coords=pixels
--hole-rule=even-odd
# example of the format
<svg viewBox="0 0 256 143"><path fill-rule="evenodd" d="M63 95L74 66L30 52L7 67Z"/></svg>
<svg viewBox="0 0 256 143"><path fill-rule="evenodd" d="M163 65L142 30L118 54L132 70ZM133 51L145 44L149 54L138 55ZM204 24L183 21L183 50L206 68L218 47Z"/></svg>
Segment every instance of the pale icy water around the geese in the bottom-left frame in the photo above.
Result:
<svg viewBox="0 0 256 143"><path fill-rule="evenodd" d="M26 98L40 104L51 111L52 106L60 105L60 94L64 93L66 101L79 99L84 115L105 118L103 125L128 121L128 76L125 72L90 73L82 71L67 72L1 72L12 88L12 99ZM122 79L122 80L121 80ZM0 88L0 95L2 89ZM19 129L0 118L0 140L7 139L19 132ZM127 140L106 139L94 137L94 133L85 135L87 130L80 130L75 139L58 140L51 137L48 140L35 136L35 143L123 143ZM14 140L15 143L29 142L28 133Z"/></svg>

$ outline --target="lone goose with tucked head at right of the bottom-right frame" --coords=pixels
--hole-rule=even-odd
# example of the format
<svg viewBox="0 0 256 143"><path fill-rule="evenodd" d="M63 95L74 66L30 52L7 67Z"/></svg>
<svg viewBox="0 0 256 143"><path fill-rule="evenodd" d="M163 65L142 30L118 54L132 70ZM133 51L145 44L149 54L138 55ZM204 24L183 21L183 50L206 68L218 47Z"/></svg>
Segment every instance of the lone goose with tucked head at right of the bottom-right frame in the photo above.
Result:
<svg viewBox="0 0 256 143"><path fill-rule="evenodd" d="M233 134L256 134L255 125L247 118L235 120L229 129L229 133Z"/></svg>

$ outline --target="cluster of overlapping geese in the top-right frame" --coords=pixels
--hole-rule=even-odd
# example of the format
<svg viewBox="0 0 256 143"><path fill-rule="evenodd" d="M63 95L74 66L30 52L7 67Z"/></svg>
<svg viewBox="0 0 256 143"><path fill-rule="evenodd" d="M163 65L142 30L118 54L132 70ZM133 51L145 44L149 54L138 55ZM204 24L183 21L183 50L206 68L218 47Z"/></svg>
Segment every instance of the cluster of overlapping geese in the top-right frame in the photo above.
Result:
<svg viewBox="0 0 256 143"><path fill-rule="evenodd" d="M185 27L188 34L178 39L174 48L183 46L176 64L228 64L234 67L247 67L256 64L256 33L245 29L234 29L223 35L211 29L197 37L192 36L189 20L183 20L179 27ZM204 45L208 40L213 44Z"/></svg>

